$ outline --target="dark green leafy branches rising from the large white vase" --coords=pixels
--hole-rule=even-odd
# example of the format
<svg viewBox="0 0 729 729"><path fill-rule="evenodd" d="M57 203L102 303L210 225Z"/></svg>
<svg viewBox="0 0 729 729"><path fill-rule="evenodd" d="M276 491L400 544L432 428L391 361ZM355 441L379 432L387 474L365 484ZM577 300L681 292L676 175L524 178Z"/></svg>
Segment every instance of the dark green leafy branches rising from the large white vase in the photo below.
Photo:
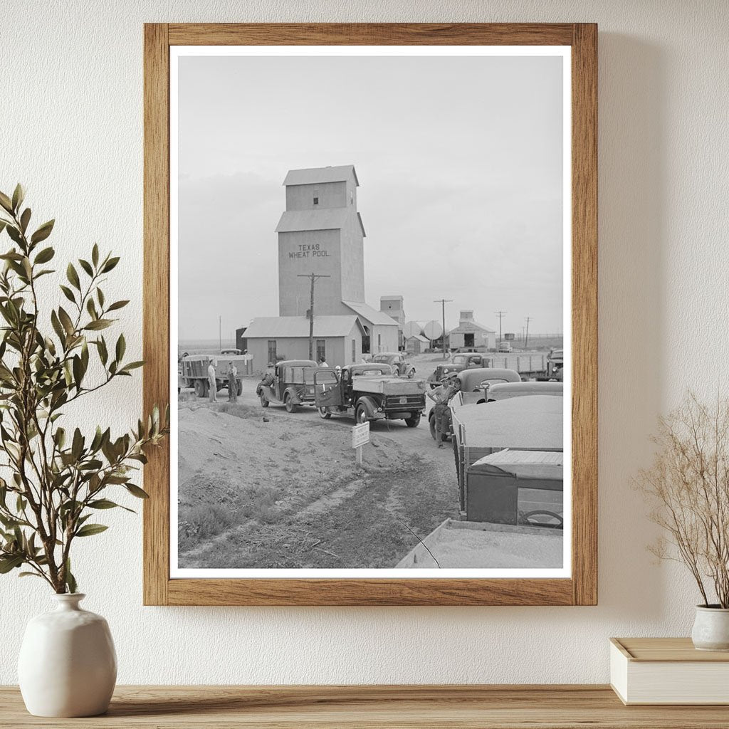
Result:
<svg viewBox="0 0 729 729"><path fill-rule="evenodd" d="M108 529L89 521L95 512L133 511L106 498L112 488L147 498L132 480L147 462L147 448L167 434L169 408L160 418L155 407L146 422L116 438L101 426L89 437L77 427L63 428L66 406L131 376L144 362L124 361L123 334L110 351L98 333L128 304L105 300L101 284L119 257L102 257L98 245L78 267L66 267L67 283L59 284L65 308L44 311L37 283L55 273L45 268L55 252L41 243L54 221L30 233L24 197L20 184L12 196L0 192L0 233L5 230L12 243L0 254L0 574L25 567L21 576L73 593L71 545Z"/></svg>

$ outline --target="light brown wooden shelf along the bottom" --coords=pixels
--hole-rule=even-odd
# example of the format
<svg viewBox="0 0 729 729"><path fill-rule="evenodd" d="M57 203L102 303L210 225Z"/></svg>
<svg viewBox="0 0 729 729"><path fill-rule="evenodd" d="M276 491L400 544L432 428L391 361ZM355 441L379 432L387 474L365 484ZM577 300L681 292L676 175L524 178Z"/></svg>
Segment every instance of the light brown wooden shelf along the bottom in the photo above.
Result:
<svg viewBox="0 0 729 729"><path fill-rule="evenodd" d="M0 687L0 726L196 729L690 729L727 706L623 706L609 686L120 686L109 712L42 719Z"/></svg>

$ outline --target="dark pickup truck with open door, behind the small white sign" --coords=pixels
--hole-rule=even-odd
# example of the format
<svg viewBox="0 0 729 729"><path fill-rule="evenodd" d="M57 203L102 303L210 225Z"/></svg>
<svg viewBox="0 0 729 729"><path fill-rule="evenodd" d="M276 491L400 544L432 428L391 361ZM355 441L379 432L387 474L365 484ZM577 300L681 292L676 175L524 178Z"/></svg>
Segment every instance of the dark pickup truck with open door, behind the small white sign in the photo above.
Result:
<svg viewBox="0 0 729 729"><path fill-rule="evenodd" d="M321 418L354 415L358 423L385 418L415 428L425 410L425 382L403 379L386 362L319 367L313 375Z"/></svg>

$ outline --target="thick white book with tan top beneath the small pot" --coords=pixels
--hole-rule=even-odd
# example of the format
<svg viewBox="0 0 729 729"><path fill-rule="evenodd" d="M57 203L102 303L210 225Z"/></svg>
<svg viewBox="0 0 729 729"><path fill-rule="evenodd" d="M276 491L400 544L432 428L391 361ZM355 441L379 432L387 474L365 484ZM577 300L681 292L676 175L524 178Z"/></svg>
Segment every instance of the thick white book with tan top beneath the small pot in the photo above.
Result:
<svg viewBox="0 0 729 729"><path fill-rule="evenodd" d="M729 652L696 650L690 638L611 638L610 685L626 704L729 704Z"/></svg>

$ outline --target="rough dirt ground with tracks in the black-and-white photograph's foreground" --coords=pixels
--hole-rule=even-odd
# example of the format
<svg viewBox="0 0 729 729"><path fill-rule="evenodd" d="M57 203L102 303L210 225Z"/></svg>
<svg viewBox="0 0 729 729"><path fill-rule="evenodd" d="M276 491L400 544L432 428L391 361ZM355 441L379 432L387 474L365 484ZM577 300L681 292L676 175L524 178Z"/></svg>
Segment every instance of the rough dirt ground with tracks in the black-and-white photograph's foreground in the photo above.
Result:
<svg viewBox="0 0 729 729"><path fill-rule="evenodd" d="M424 357L418 377L440 361ZM357 468L351 418L261 408L256 383L235 405L180 395L179 566L392 567L457 518L453 454L426 418L371 424Z"/></svg>

